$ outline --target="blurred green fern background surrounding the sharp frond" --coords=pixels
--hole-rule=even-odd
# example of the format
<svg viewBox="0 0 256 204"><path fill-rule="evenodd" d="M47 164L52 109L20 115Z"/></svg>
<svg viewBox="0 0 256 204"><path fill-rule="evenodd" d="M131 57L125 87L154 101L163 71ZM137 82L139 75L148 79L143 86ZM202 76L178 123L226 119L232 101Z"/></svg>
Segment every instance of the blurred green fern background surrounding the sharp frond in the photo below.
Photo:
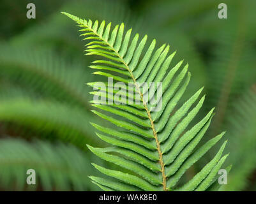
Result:
<svg viewBox="0 0 256 204"><path fill-rule="evenodd" d="M26 17L27 4L36 18ZM227 19L218 4L227 4ZM192 80L183 101L205 86L199 118L215 106L205 140L223 130L232 164L223 191L256 191L256 1L255 0L1 0L0 190L95 191L88 175L102 165L86 148L106 145L89 122L97 120L87 82L102 80L88 68L78 28L60 11L82 18L124 22L189 62ZM182 102L182 101L181 101ZM215 149L216 150L216 149ZM213 156L200 159L190 179ZM26 171L36 170L36 185Z"/></svg>

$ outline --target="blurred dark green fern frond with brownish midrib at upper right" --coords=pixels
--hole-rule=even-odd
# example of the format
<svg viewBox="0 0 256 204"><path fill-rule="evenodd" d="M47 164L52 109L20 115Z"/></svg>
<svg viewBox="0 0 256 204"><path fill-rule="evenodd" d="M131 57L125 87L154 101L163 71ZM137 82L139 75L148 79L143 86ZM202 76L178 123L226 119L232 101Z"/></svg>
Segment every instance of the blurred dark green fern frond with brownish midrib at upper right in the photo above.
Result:
<svg viewBox="0 0 256 204"><path fill-rule="evenodd" d="M241 1L230 6L232 9L230 8L229 15L232 18L227 19L223 29L215 32L214 60L209 63L207 76L211 98L209 104L216 106L212 135L225 125L226 113L229 112L232 101L256 82L256 50L249 40L250 22L246 14L250 13L249 6Z"/></svg>

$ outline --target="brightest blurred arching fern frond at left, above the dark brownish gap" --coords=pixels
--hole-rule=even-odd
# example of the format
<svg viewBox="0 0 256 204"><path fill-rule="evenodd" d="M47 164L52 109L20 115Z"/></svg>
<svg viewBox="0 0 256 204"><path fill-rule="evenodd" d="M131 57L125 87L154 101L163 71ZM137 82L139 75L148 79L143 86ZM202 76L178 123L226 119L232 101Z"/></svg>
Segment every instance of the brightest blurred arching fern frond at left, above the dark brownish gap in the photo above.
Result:
<svg viewBox="0 0 256 204"><path fill-rule="evenodd" d="M41 137L71 142L83 149L87 142L100 142L93 136L93 131L90 131L89 117L91 115L82 108L64 103L24 96L0 97L1 122L12 122L16 126L24 126L35 131ZM20 134L31 136L22 132Z"/></svg>

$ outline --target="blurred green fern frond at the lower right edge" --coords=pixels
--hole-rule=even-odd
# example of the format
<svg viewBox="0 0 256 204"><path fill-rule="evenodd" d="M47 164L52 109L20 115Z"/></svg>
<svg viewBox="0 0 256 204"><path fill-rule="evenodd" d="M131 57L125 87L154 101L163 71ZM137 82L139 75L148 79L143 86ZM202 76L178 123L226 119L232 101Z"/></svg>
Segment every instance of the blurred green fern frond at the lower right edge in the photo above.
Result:
<svg viewBox="0 0 256 204"><path fill-rule="evenodd" d="M229 163L234 168L222 190L242 191L253 185L248 178L256 170L256 90L246 92L234 103L228 124L229 150L234 152Z"/></svg>

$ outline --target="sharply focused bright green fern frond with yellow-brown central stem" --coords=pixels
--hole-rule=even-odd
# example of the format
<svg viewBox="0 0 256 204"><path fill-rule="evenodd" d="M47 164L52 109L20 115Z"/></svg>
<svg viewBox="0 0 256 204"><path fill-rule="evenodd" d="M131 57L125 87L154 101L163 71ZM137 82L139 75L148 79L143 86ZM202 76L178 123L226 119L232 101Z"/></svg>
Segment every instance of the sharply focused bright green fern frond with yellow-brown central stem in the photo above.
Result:
<svg viewBox="0 0 256 204"><path fill-rule="evenodd" d="M97 170L113 177L114 180L94 176L90 177L91 180L105 191L204 191L214 184L216 174L228 156L222 156L227 141L193 179L181 187L176 187L186 170L206 154L224 134L221 133L204 143L199 149L194 150L206 133L213 117L212 109L195 126L186 130L203 104L204 96L191 109L202 89L180 108L177 108L175 113L173 112L190 81L188 64L176 74L183 61L169 70L170 62L176 53L168 55L169 45L162 45L153 52L156 44L153 40L142 56L147 36L144 36L137 45L139 34L135 34L130 40L132 29L124 34L124 24L116 25L110 33L111 23L105 27L105 21L99 24L97 20L92 22L69 13L63 12L63 14L75 20L79 27L82 27L80 31L84 33L81 36L86 36L85 40L91 40L86 45L87 55L100 55L104 58L93 62L94 65L91 68L102 69L95 74L112 77L117 82L124 82L126 85L132 82L136 89L135 95L139 94L142 101L142 105L94 104L103 112L116 115L105 115L105 113L93 110L96 115L109 120L120 129L92 124L94 128L102 132L96 135L114 147L94 148L90 145L87 147L96 156L121 166L123 171L110 170L93 164ZM175 74L176 77L174 77ZM144 94L147 94L148 90L141 91L138 85L143 82L147 84L162 82L161 110L154 112L147 103L144 103ZM89 83L89 85L93 86L95 83ZM112 96L108 90L105 89L108 93L107 97Z"/></svg>

